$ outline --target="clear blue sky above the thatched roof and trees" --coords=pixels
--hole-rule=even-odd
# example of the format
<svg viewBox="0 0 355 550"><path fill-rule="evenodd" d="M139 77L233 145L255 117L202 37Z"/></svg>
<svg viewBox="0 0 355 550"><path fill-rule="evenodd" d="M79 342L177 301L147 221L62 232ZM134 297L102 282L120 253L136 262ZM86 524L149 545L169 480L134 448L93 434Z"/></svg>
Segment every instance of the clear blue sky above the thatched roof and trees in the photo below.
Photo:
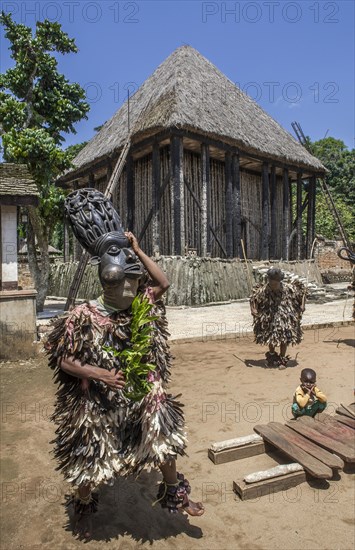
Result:
<svg viewBox="0 0 355 550"><path fill-rule="evenodd" d="M255 99L286 130L300 122L354 147L354 2L1 1L18 22L48 18L75 38L78 54L59 69L88 94L88 120L66 144L94 135L174 51L189 44ZM1 35L1 71L12 66Z"/></svg>

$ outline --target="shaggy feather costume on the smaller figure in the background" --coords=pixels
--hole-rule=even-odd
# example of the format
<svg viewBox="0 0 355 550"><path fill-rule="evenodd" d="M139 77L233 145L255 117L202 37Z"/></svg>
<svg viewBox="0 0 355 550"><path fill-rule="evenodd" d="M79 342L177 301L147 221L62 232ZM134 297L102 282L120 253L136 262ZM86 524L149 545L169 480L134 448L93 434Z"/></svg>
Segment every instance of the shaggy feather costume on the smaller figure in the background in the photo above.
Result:
<svg viewBox="0 0 355 550"><path fill-rule="evenodd" d="M282 282L279 291L273 291L267 283L253 289L250 303L257 310L253 318L257 344L279 346L301 342L302 301L306 293L300 281Z"/></svg>

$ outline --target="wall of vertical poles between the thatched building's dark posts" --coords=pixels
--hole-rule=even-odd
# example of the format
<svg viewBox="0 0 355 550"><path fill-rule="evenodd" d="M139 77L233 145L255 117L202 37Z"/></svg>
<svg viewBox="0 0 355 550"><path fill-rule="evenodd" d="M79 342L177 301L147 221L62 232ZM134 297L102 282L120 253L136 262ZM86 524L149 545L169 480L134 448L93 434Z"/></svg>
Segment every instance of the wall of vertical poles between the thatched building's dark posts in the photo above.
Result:
<svg viewBox="0 0 355 550"><path fill-rule="evenodd" d="M164 187L158 209L158 239L159 252L162 255L173 253L173 196L171 192L171 159L170 146L160 149L160 186ZM142 248L147 254L153 254L153 175L152 153L136 159L133 162L132 175L127 181L125 168L113 196L113 202L121 216L123 227L132 230L140 239ZM210 167L210 225L209 249L211 257L225 257L226 250L226 185L225 163L211 158ZM104 191L108 178L95 180L95 187ZM184 149L184 229L185 251L194 251L201 256L201 204L202 204L202 167L201 156L198 153ZM127 188L133 185L133 224L129 227ZM242 238L248 259L261 258L262 230L262 182L261 174L240 172L241 193L241 223ZM275 258L282 256L282 215L283 186L282 178L276 178L276 240ZM149 218L150 216L150 218ZM269 226L271 224L269 212ZM149 223L147 223L147 219ZM213 236L213 232L216 237ZM218 242L219 241L219 242Z"/></svg>

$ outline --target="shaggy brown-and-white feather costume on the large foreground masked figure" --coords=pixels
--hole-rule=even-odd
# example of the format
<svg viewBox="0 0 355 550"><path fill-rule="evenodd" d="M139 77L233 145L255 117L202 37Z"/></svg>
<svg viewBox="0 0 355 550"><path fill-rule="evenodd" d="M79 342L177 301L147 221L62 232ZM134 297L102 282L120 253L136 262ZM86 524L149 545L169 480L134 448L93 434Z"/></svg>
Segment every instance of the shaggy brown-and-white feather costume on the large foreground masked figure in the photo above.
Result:
<svg viewBox="0 0 355 550"><path fill-rule="evenodd" d="M149 374L151 391L138 402L95 380L83 390L81 380L58 366L58 359L73 356L83 364L120 368L119 359L103 346L129 347L131 308L108 314L96 301L84 303L58 319L48 337L49 365L59 383L52 416L58 426L55 456L74 487L112 484L116 476L138 474L185 454L182 405L166 393L171 354L163 304L154 304L151 313L158 319L152 321L146 361L156 369Z"/></svg>

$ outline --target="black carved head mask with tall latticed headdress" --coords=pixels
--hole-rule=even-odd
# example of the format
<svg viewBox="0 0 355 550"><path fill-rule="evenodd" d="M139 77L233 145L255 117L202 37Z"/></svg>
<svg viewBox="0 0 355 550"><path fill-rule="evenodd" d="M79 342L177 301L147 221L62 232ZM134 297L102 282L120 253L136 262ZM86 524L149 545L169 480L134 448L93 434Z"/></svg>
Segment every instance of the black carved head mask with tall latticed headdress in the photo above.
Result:
<svg viewBox="0 0 355 550"><path fill-rule="evenodd" d="M79 189L65 200L65 215L74 235L99 264L102 286L113 287L125 277L138 279L143 267L124 234L112 203L96 189Z"/></svg>

